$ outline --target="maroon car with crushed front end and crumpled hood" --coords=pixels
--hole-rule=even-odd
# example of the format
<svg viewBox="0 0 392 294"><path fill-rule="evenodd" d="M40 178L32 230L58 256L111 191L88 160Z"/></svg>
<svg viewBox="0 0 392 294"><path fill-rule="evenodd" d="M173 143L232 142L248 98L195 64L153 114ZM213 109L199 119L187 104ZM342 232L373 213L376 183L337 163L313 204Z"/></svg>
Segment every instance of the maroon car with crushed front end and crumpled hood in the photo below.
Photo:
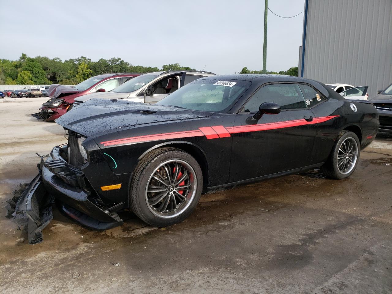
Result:
<svg viewBox="0 0 392 294"><path fill-rule="evenodd" d="M77 85L70 87L65 85L53 84L48 89L49 100L42 104L39 113L32 116L46 121L53 121L67 111L71 110L76 97L96 93L108 92L127 82L138 73L110 73L93 76Z"/></svg>

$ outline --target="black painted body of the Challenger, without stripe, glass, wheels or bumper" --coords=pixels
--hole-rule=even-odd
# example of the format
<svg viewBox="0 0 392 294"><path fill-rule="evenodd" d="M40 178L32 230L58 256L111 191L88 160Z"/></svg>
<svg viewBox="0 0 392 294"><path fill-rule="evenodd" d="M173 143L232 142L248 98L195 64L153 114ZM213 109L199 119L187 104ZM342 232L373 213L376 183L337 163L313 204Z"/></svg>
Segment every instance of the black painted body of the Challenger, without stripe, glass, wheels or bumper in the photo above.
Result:
<svg viewBox="0 0 392 294"><path fill-rule="evenodd" d="M120 201L128 203L128 188L138 160L152 149L162 146L174 145L192 154L196 152L199 160L202 159L205 162L201 165L204 167L205 191L207 191L209 187L216 188L220 185L228 185L230 182L236 183L249 178L321 165L327 160L338 133L347 127L357 128L361 137L361 148L366 147L374 139L374 129L377 129L377 112L374 107L355 103L358 111L354 112L350 108L352 102L345 100L318 82L273 75L230 75L219 78L222 80L244 79L252 82L229 113L205 113L161 105L147 106L120 100L100 100L99 102L89 100L83 103L82 107L73 109L56 122L66 129L87 136L83 145L89 151L89 162L82 167L82 171L97 194L114 203ZM236 113L256 89L271 82L308 83L328 100L312 109L264 115L259 123L298 119L307 115L313 117L338 115L338 117L319 125L275 129L254 134L239 133L213 140L206 137L191 137L111 146L102 144L106 141L149 134L191 131L199 127L245 125L252 114ZM146 114L140 113L143 110ZM147 111L155 113L149 114ZM304 135L306 141L302 142ZM372 138L368 138L369 136ZM295 144L285 150L288 138ZM233 154L231 154L232 146ZM272 153L263 154L266 148L269 148ZM251 151L257 151L256 155L250 154ZM104 153L109 154L110 157L105 156ZM111 158L117 163L116 169L113 168L114 162ZM250 166L255 158L261 159L262 167L260 165ZM301 165L302 160L306 162ZM101 186L116 183L123 183L123 188L105 192L100 189Z"/></svg>

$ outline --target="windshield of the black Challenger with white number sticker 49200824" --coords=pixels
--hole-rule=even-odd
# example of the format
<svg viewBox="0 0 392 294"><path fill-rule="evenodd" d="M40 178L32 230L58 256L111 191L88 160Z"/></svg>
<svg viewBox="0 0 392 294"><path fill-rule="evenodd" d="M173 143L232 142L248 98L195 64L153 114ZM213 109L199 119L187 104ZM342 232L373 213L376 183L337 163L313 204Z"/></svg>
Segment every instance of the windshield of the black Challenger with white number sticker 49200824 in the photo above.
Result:
<svg viewBox="0 0 392 294"><path fill-rule="evenodd" d="M250 85L251 82L241 80L196 80L156 104L198 111L229 111Z"/></svg>

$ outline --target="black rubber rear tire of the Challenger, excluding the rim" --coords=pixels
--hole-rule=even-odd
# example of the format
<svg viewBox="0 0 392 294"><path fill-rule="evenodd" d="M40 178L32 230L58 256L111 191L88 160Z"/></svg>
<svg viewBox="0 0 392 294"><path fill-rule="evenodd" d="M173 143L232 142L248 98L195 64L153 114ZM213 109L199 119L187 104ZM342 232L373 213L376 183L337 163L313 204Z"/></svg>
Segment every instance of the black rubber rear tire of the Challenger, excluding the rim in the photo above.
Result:
<svg viewBox="0 0 392 294"><path fill-rule="evenodd" d="M356 155L355 162L350 167L350 169L347 171L347 173L343 173L338 167L338 153L339 153L339 149L341 148L342 143L346 142L347 139L351 140L351 141L355 140L357 155ZM336 138L334 147L332 147L332 151L328 157L328 160L321 167L321 171L328 178L332 178L332 179L336 179L336 180L343 180L345 178L348 178L355 171L355 169L358 165L360 152L361 152L361 147L360 147L360 142L359 142L358 136L354 132L341 131L339 133L338 137Z"/></svg>

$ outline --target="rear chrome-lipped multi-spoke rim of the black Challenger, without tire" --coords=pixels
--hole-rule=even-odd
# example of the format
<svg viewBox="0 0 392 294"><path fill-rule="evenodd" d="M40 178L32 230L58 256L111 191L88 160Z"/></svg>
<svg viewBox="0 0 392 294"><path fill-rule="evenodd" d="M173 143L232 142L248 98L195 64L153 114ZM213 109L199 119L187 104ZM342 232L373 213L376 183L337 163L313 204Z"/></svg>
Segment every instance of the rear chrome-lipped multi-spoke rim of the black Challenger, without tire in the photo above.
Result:
<svg viewBox="0 0 392 294"><path fill-rule="evenodd" d="M336 160L342 174L348 174L354 169L358 160L358 144L354 138L348 137L343 140Z"/></svg>

